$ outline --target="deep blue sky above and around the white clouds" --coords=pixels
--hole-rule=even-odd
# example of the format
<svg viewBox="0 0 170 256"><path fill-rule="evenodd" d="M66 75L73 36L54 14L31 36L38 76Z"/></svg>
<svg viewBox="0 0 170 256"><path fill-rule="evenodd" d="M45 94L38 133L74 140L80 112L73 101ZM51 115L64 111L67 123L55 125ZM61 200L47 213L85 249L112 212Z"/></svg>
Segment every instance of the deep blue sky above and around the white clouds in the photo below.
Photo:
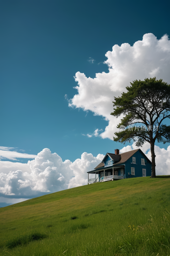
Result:
<svg viewBox="0 0 170 256"><path fill-rule="evenodd" d="M0 146L32 155L49 148L63 161L75 161L74 166L77 163L76 159L81 158L82 163L86 163L88 157L91 157L88 155L84 158L86 160L82 160L81 155L84 152L97 157L98 154L114 153L115 148L123 148L124 145L111 140L114 136L111 130L108 136L105 132L105 128L109 122L111 123L108 115L112 108L105 109L101 105L102 110L100 103L93 106L92 101L97 101L98 97L90 98L92 93L94 96L97 95L100 85L100 96L102 90L104 95L104 80L100 83L98 79L98 84L93 87L93 81L97 80L87 78L95 78L96 73L105 76L102 72L112 72L108 66L111 65L113 68L114 64L109 64L113 56L111 53L107 56L105 54L108 51L112 52L114 45L121 47L123 44L121 49L128 47L125 43L133 46L135 42L144 40L143 36L148 33L152 33L158 40L165 34L170 35L169 7L168 1L1 1ZM149 39L146 36L145 42L156 42L154 36L151 35ZM169 42L167 37L164 41L165 45ZM116 49L118 48L115 47L115 51ZM124 56L124 59L117 59L116 67L120 68L125 62L128 66L128 56L130 55ZM144 57L141 67L145 64L147 66L148 63L150 65L152 56L154 59L155 54L148 57L148 62ZM110 61L108 65L103 63L107 60ZM127 76L122 70L123 68L122 76ZM169 73L164 71L164 68L155 66L148 72L151 76L158 74L158 78L162 76L160 78L170 83ZM142 79L145 78L145 73L141 75ZM129 85L132 79L140 78L139 74L136 76L135 71L133 74L126 79L123 88ZM77 77L77 82L74 76ZM119 76L121 77L120 74ZM114 79L113 82L116 81L116 78ZM78 83L82 84L83 90L89 86L86 98L81 92L77 101L71 101L70 99L74 99L73 97L78 94L78 90L74 88ZM84 98L80 107L82 95ZM111 104L114 96L113 92L109 99ZM91 106L88 105L88 99ZM72 107L69 107L69 102L72 102ZM93 107L100 110L95 112L92 110ZM100 131L99 136L87 136L94 134L96 129ZM100 136L102 132L103 135ZM156 145L165 149L169 146ZM47 157L43 157L46 159L44 161L48 160ZM89 161L100 161L100 158L102 156L98 159L91 158ZM2 157L1 161L26 164L32 159L26 155L25 158L16 156L14 159ZM74 166L71 167L73 173L70 177L76 175ZM92 165L89 168L94 167ZM83 182L74 184L78 186L84 184ZM63 188L65 187L59 190ZM23 198L22 196L21 199Z"/></svg>

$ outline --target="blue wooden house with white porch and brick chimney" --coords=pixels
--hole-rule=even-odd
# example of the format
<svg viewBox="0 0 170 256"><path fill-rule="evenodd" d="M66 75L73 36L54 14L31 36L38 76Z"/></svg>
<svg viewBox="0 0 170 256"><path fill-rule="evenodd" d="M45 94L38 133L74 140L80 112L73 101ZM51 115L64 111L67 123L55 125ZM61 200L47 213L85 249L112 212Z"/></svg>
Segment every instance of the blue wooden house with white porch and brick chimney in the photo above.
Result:
<svg viewBox="0 0 170 256"><path fill-rule="evenodd" d="M135 149L119 154L107 153L102 162L88 173L88 184L109 180L121 180L134 177L151 176L152 162L142 150ZM95 178L89 179L89 173L94 173ZM97 176L96 176L97 175Z"/></svg>

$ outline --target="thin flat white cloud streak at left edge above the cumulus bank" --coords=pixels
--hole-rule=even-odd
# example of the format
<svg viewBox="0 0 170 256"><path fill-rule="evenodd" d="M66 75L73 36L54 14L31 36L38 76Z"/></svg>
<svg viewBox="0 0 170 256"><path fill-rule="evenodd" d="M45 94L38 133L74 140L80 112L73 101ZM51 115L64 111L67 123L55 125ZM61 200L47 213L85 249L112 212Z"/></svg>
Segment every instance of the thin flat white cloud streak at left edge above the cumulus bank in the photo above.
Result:
<svg viewBox="0 0 170 256"><path fill-rule="evenodd" d="M4 148L4 147L3 147ZM16 151L9 151L7 149L0 150L0 159L17 160L16 158L35 158L36 155L29 155L26 153L20 153Z"/></svg>

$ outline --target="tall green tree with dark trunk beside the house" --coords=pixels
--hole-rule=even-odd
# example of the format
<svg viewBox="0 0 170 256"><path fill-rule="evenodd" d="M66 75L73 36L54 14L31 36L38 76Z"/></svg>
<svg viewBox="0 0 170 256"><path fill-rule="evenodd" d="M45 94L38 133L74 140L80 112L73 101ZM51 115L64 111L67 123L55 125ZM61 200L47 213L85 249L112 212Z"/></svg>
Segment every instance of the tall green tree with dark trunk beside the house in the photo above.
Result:
<svg viewBox="0 0 170 256"><path fill-rule="evenodd" d="M155 140L158 142L170 142L170 125L162 124L165 118L170 118L170 85L162 82L162 79L146 78L144 81L135 80L127 86L127 92L123 92L121 97L114 97L113 116L121 116L121 125L127 127L136 123L134 128L125 129L115 132L117 137L113 137L114 141L121 143L136 142L136 146L140 147L145 141L151 145L152 156L152 175L155 173ZM146 127L147 126L147 127Z"/></svg>

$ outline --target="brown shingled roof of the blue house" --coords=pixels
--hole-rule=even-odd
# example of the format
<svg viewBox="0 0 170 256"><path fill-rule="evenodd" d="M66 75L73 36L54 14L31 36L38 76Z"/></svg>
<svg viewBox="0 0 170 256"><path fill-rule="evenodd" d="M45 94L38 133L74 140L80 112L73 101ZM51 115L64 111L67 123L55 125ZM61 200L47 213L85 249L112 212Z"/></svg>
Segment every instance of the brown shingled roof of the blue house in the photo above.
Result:
<svg viewBox="0 0 170 256"><path fill-rule="evenodd" d="M116 162L114 165L116 164L122 164L124 162L126 162L131 156L133 156L138 150L141 150L141 149L134 149L134 150L130 150L128 152L125 152L125 153L122 153L122 154L119 154L119 155L115 155L115 154L112 154L112 153L107 153L114 161L118 161ZM141 150L142 152L142 150ZM142 152L143 153L143 152ZM106 155L107 155L106 154ZM143 153L144 155L144 153ZM146 156L145 156L146 157ZM105 158L105 157L104 157ZM146 157L147 158L147 157ZM148 158L147 158L148 159ZM104 160L104 159L103 159ZM148 159L149 162L151 162L149 159ZM99 169L99 168L102 168L104 167L104 163L100 163L98 164L98 166L96 166L94 169Z"/></svg>

